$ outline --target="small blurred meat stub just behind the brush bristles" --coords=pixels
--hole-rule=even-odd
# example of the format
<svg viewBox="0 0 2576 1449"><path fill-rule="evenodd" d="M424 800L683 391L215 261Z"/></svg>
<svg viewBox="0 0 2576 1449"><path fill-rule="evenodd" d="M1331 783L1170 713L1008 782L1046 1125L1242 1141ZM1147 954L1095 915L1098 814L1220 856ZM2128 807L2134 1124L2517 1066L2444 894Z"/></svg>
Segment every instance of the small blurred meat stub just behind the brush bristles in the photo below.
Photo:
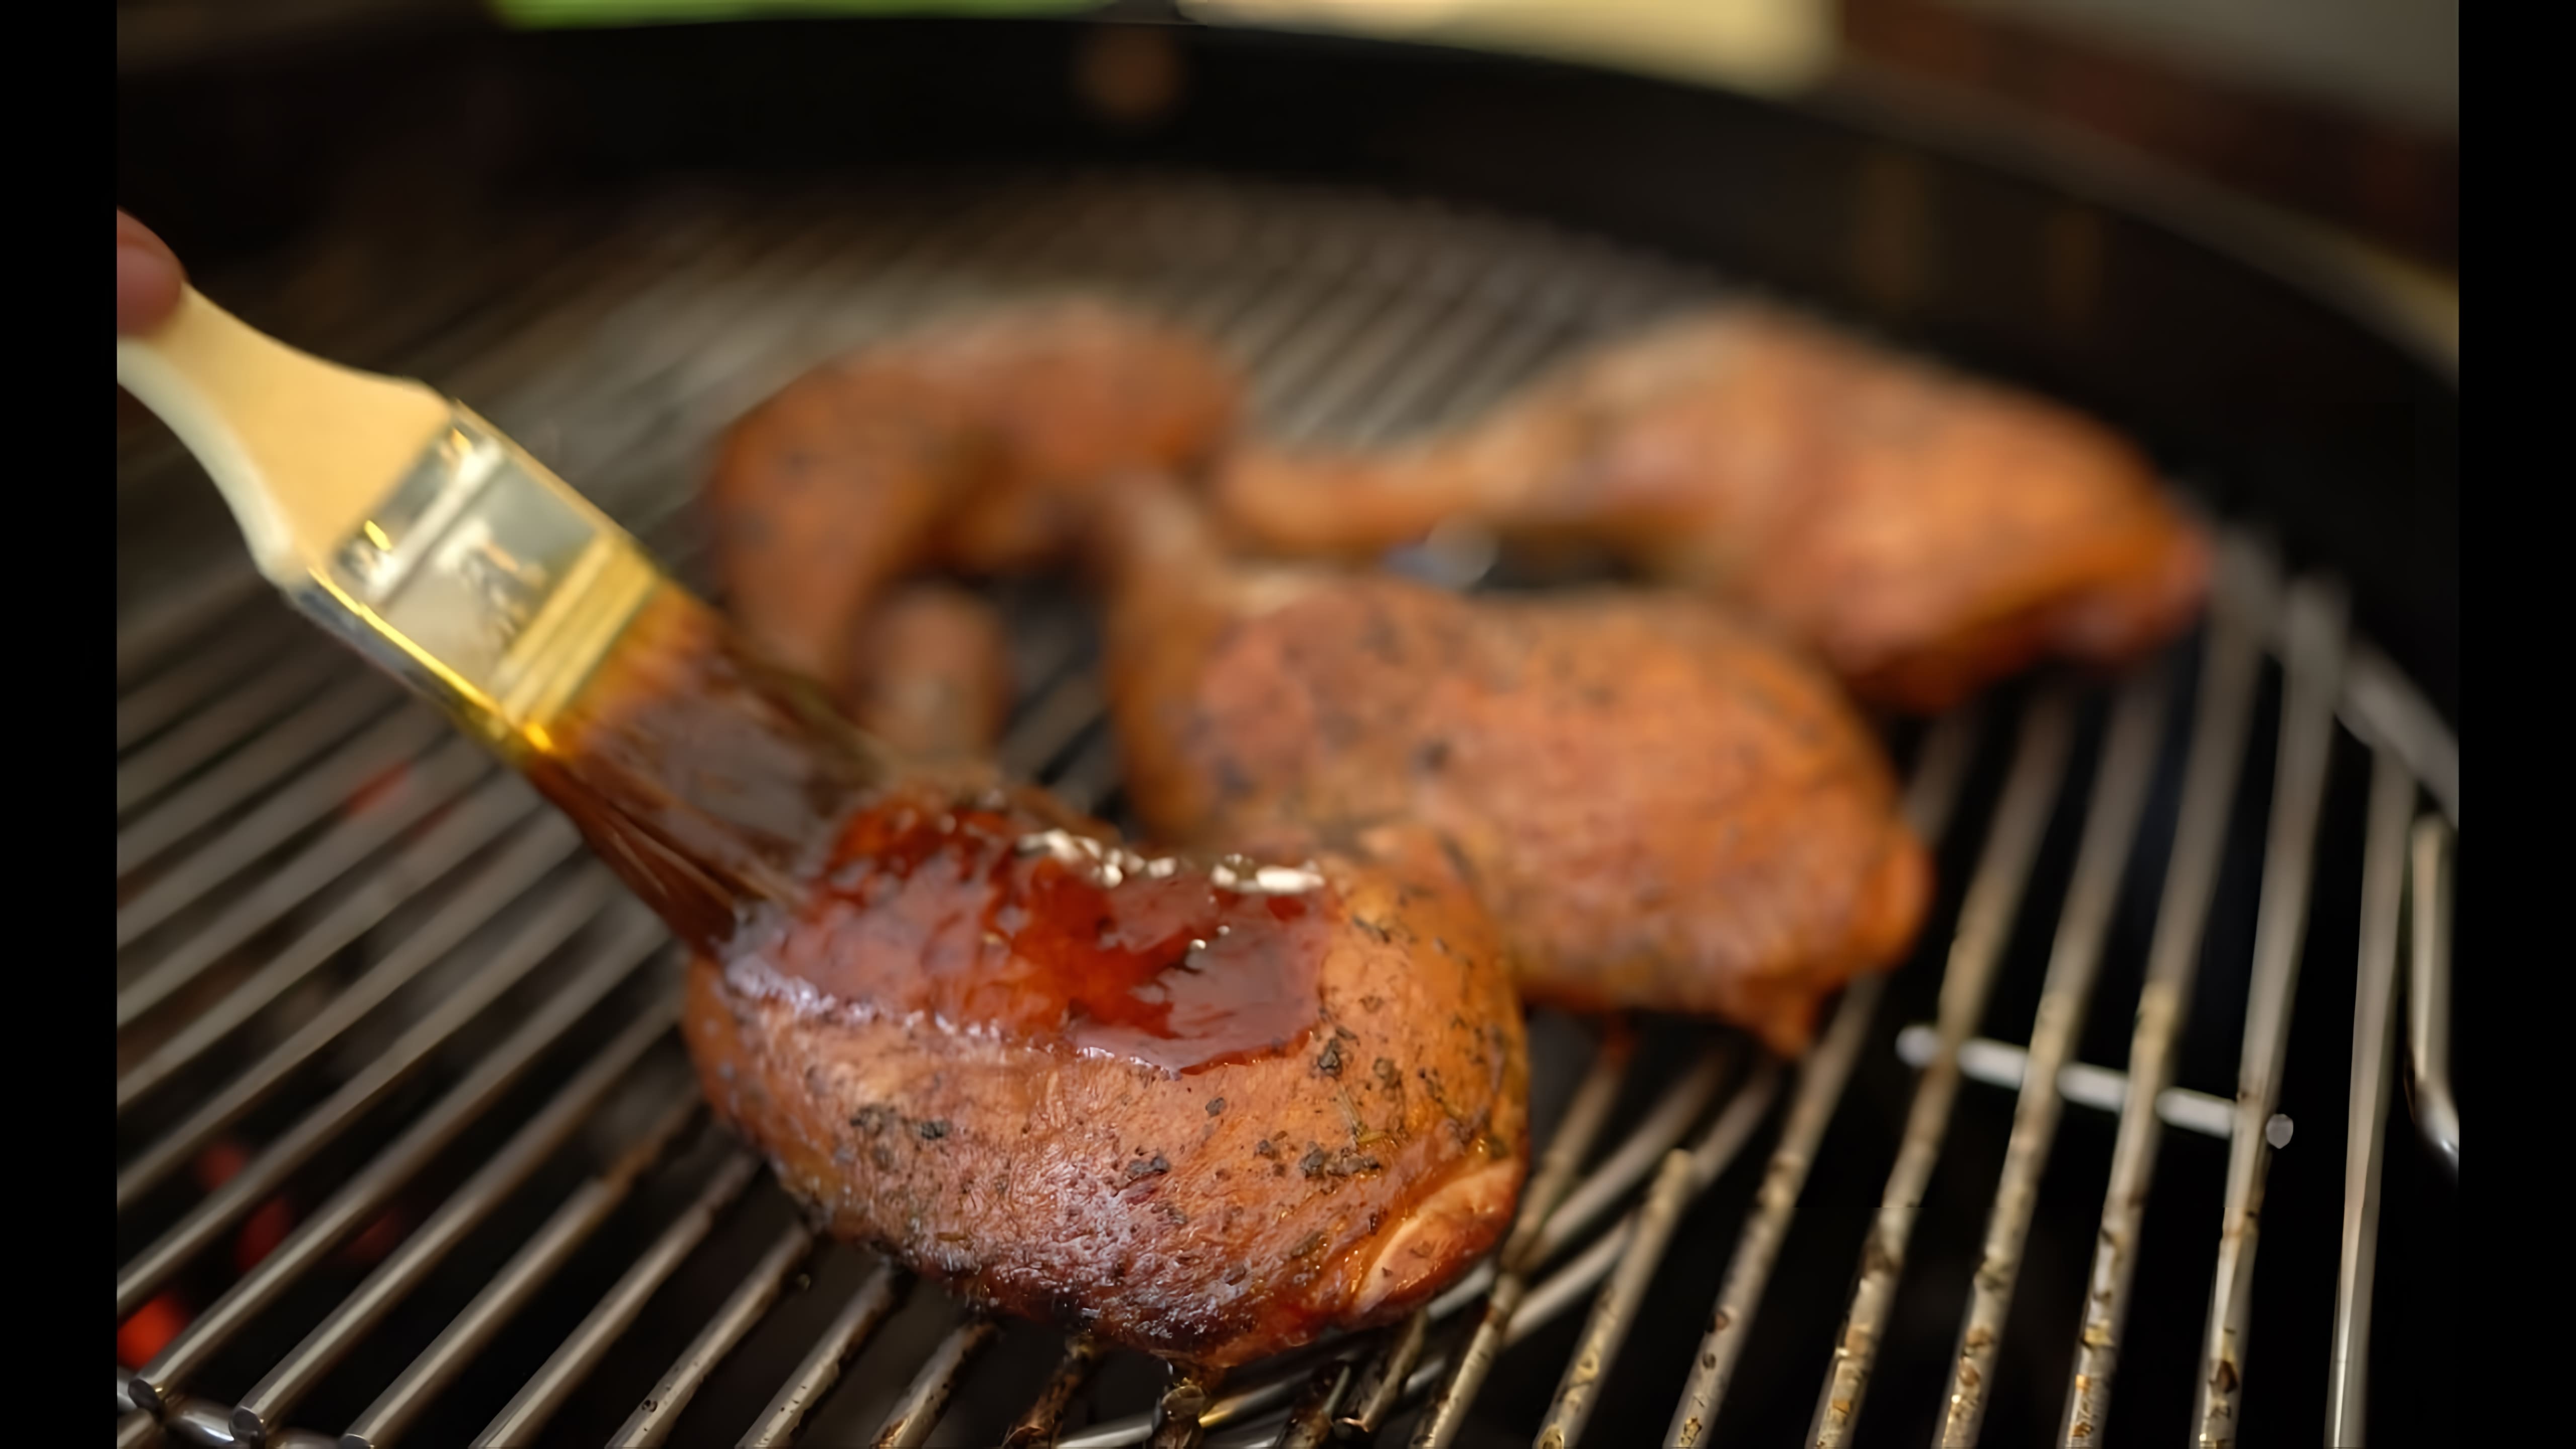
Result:
<svg viewBox="0 0 2576 1449"><path fill-rule="evenodd" d="M976 761L1010 717L1002 616L948 583L896 588L860 624L850 717L899 753Z"/></svg>

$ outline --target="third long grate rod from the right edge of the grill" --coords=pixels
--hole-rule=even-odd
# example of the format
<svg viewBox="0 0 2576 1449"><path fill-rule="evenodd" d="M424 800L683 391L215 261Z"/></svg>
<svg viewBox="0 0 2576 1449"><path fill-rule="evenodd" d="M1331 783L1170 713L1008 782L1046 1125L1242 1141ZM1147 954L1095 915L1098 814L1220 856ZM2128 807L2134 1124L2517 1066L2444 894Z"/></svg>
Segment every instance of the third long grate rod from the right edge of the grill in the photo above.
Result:
<svg viewBox="0 0 2576 1449"><path fill-rule="evenodd" d="M2120 1134L2112 1142L2102 1225L2084 1289L2084 1323L2076 1333L2074 1377L2061 1418L2066 1449L2094 1444L2110 1410L2110 1379L2120 1359L2128 1289L2138 1271L2138 1227L2146 1222L2146 1194L2156 1178L2156 1145L2164 1140L2159 1101L2174 1078L2174 1039L2190 1011L2192 977L2200 969L2200 936L2210 918L2228 812L2236 804L2236 779L2254 724L2254 681L2262 652L2249 614L2257 614L2257 603L2269 590L2267 559L2236 541L2221 547L2192 743L2182 766L2182 810L2166 853L2164 895L2156 902L2146 985L2138 990L2138 1024L2128 1047L2128 1101L2120 1106Z"/></svg>

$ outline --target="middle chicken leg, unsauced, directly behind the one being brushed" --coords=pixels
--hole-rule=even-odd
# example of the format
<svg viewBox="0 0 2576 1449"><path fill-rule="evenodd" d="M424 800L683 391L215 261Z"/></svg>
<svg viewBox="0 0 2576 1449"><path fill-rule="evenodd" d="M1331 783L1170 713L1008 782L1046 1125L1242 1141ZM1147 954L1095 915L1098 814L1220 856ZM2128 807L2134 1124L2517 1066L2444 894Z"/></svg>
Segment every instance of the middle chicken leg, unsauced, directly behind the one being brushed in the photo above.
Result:
<svg viewBox="0 0 2576 1449"><path fill-rule="evenodd" d="M1417 822L1525 998L1723 1016L1780 1052L1911 944L1929 861L1878 740L1759 627L1680 593L1226 567L1177 490L1118 500L1105 670L1157 838Z"/></svg>

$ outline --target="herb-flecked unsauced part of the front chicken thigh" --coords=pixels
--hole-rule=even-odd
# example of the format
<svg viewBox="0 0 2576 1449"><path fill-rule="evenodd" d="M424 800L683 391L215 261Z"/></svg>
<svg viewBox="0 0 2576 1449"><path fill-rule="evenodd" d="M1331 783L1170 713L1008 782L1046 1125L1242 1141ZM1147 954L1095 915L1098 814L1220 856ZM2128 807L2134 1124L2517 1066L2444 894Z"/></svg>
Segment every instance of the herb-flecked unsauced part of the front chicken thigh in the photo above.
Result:
<svg viewBox="0 0 2576 1449"><path fill-rule="evenodd" d="M832 1235L989 1310L1224 1369L1425 1305L1502 1238L1528 1165L1492 920L1435 846L1386 853L1399 874L1324 851L1332 908L1298 892L1309 910L1270 918L1314 931L1298 1049L1175 1073L819 1008L757 954L693 962L683 1029L716 1116ZM909 933L832 959L871 954L891 977L917 959Z"/></svg>

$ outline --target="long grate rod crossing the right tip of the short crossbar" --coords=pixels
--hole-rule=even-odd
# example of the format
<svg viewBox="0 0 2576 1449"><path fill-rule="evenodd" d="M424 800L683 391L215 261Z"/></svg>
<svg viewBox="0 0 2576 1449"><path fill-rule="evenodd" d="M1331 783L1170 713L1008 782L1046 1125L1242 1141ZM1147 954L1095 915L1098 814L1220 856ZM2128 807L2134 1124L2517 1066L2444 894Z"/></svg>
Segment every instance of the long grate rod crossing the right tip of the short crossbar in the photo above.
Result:
<svg viewBox="0 0 2576 1449"><path fill-rule="evenodd" d="M2236 1067L2236 1132L2228 1142L2228 1207L2218 1238L2218 1279L2200 1361L2205 1449L2236 1444L2244 1390L2244 1333L2254 1307L2257 1214L2272 1165L2272 1109L2290 1052L2290 1000L2308 933L2308 882L2316 871L2316 820L2334 758L2334 704L2342 696L2344 619L2349 603L2321 583L2300 583L2287 611L2287 688L2280 730L2280 776L2264 843L2262 902L2254 915L2254 985L2246 993L2244 1057Z"/></svg>

